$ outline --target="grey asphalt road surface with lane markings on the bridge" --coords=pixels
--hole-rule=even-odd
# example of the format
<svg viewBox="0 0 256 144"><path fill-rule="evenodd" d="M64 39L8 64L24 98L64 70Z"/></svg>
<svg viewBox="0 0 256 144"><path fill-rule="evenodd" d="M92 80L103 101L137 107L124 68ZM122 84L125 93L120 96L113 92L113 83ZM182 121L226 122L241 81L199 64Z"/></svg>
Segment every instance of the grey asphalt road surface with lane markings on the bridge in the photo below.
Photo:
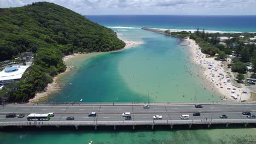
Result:
<svg viewBox="0 0 256 144"><path fill-rule="evenodd" d="M50 121L66 121L69 116L74 121L124 121L123 112L131 112L132 120L126 121L152 121L154 115L161 115L162 120L180 120L182 114L188 114L191 119L221 119L220 115L227 115L228 119L247 119L242 111L251 111L256 114L255 104L218 104L203 105L203 108L195 108L194 105L150 105L150 109L143 109L143 105L135 106L3 106L0 107L0 122L24 122L24 118L5 118L7 113L48 113L55 112ZM88 117L89 112L96 112L97 117ZM201 116L193 116L194 112L200 112Z"/></svg>

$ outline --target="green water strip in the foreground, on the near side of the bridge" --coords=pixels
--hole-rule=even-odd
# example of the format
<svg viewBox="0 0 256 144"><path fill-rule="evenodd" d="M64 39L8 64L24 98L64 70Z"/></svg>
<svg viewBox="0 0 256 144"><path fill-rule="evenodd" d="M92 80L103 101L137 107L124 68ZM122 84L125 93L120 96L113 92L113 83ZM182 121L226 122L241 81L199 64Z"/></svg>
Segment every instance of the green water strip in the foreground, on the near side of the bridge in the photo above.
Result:
<svg viewBox="0 0 256 144"><path fill-rule="evenodd" d="M212 129L170 131L21 131L0 132L1 143L255 143L255 129Z"/></svg>

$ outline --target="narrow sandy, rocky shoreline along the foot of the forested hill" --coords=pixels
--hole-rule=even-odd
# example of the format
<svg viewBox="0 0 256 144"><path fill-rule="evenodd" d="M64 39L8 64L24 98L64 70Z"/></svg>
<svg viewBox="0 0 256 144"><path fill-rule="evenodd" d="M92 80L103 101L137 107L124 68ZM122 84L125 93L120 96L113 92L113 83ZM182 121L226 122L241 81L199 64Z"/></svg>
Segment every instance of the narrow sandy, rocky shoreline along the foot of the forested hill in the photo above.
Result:
<svg viewBox="0 0 256 144"><path fill-rule="evenodd" d="M119 37L120 39L120 37ZM122 39L121 39L122 40ZM78 57L87 57L86 59L90 59L92 57L95 57L97 55L103 54L103 53L111 53L111 52L119 52L127 49L132 49L134 46L144 44L144 41L130 41L130 40L123 40L126 45L120 50L115 50L115 51L108 51L108 52L92 52L92 53L74 53L72 55L67 55L62 58L62 61L67 65L67 62L71 61L74 58ZM53 77L53 83L48 83L47 87L45 87L43 92L37 93L34 98L28 100L28 103L36 103L42 100L45 100L49 98L51 95L59 92L61 90L61 85L59 83L59 79L62 75L69 73L72 69L75 69L75 67L67 65L67 69L55 77Z"/></svg>

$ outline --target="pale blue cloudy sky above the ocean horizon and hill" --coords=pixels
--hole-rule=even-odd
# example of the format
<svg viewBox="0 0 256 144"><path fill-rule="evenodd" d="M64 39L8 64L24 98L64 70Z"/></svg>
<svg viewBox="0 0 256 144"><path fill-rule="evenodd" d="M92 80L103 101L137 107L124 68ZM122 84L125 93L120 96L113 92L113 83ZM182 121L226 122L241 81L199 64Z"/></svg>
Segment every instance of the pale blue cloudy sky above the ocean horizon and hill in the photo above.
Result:
<svg viewBox="0 0 256 144"><path fill-rule="evenodd" d="M82 15L256 15L256 0L45 0ZM38 0L0 0L0 8Z"/></svg>

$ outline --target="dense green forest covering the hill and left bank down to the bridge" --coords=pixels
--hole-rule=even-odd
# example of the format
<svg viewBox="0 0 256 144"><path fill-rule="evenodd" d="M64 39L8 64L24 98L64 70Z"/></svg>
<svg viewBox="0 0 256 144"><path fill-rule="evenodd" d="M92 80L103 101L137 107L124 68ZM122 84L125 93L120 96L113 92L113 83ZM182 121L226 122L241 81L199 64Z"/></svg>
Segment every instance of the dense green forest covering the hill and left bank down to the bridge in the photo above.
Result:
<svg viewBox="0 0 256 144"><path fill-rule="evenodd" d="M54 3L37 2L0 9L0 61L34 52L33 65L19 82L0 91L8 101L28 101L43 91L53 76L66 70L62 57L76 52L119 50L125 43L112 29Z"/></svg>

